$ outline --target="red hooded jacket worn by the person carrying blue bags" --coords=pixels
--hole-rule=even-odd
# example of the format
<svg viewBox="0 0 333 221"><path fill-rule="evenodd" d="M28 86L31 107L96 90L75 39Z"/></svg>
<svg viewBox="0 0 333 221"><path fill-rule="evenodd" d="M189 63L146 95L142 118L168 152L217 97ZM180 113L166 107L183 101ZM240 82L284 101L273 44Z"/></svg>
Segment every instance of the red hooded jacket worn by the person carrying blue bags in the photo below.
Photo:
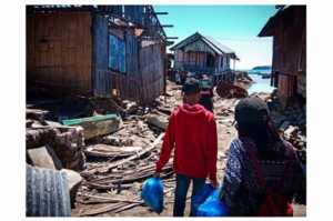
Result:
<svg viewBox="0 0 333 221"><path fill-rule="evenodd" d="M157 171L174 150L173 171L183 175L216 179L218 132L214 114L202 106L184 104L169 120Z"/></svg>

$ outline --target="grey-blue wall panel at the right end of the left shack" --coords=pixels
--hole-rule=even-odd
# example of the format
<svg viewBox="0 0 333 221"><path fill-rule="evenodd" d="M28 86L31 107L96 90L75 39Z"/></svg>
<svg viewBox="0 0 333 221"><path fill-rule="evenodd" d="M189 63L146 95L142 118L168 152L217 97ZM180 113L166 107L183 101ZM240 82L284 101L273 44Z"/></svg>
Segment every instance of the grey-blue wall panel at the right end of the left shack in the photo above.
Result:
<svg viewBox="0 0 333 221"><path fill-rule="evenodd" d="M162 44L151 44L140 50L140 96L143 103L164 93L164 58Z"/></svg>

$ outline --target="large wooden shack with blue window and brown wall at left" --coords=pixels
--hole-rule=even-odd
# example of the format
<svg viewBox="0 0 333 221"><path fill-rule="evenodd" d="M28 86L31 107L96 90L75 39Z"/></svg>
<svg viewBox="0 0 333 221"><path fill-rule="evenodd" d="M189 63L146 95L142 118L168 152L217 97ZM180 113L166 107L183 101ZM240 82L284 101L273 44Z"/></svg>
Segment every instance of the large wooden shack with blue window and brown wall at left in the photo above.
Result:
<svg viewBox="0 0 333 221"><path fill-rule="evenodd" d="M165 88L157 14L152 6L27 6L28 81L148 103Z"/></svg>

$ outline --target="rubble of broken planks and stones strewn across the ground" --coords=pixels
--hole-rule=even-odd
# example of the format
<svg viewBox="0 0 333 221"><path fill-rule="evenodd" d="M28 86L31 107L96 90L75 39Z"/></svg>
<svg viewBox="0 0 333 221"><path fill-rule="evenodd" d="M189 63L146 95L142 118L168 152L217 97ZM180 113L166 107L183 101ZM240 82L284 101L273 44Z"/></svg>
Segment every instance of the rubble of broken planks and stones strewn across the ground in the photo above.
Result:
<svg viewBox="0 0 333 221"><path fill-rule="evenodd" d="M144 205L138 194L144 182L153 177L169 118L183 102L181 90L182 86L167 81L167 98L161 96L147 107L115 98L92 99L85 101L84 104L88 108L80 118L68 118L59 122L43 119L46 114L30 117L31 119L27 118L26 139L28 154L32 155L34 151L44 148L38 154L47 155L48 161L44 163L49 163L52 160L53 167L52 163L50 165L31 162L29 161L29 155L27 162L36 167L39 164L41 168L49 167L52 170L61 170L62 168L56 167L54 162L57 160L52 158L52 154L49 153L50 151L46 151L46 147L54 151L63 169L67 169L69 174L68 184L71 205L77 208L73 210L74 215L82 217L101 213L115 215L123 210ZM240 91L242 92L242 90ZM225 127L229 132L229 127L231 127L231 122L234 119L234 107L241 99L238 97L221 98L218 96L216 90L214 90L214 94L216 123ZM241 96L243 98L243 94ZM251 96L259 97L266 102L276 102L271 94L255 93ZM272 104L272 107L275 107L275 104ZM40 111L47 113L43 112L44 110L37 112ZM281 118L283 114L278 110L272 109L272 112L273 119L287 120L287 118ZM71 120L78 121L81 119L83 122L87 118L102 119L109 114L118 114L121 123L118 124L119 127L105 132L100 131L104 130L104 125L110 125L109 121L101 123L101 125L98 125L98 123L103 121L98 120L89 121L91 122L89 127L82 123L70 123L70 127L63 125ZM296 142L293 144L297 151L304 150L301 147L306 148L306 139L303 139L305 135L300 132L293 119L287 121L290 123L284 123L281 134L285 140L292 143ZM43 125L44 123L47 125ZM281 124L279 124L279 128ZM164 193L171 199L175 187L174 172L172 170L173 154L172 152L169 163L161 173L163 185L167 189ZM303 152L302 154L304 155ZM219 151L218 158L220 163L222 163L220 168L225 168L228 151ZM77 204L73 204L74 202ZM97 207L92 207L93 204L97 204Z"/></svg>

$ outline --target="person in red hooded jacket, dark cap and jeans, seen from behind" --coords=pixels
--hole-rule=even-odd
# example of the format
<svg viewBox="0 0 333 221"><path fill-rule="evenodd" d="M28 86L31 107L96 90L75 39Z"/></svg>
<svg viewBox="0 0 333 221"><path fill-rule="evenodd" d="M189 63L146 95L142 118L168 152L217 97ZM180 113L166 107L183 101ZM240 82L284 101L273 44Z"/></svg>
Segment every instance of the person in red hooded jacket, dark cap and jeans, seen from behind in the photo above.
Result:
<svg viewBox="0 0 333 221"><path fill-rule="evenodd" d="M154 173L154 178L158 178L174 148L173 171L176 178L173 217L184 215L191 180L192 197L204 185L208 177L212 187L218 188L218 132L214 114L199 104L201 83L196 79L188 80L183 91L186 104L170 117ZM190 212L190 217L193 214L195 211Z"/></svg>

